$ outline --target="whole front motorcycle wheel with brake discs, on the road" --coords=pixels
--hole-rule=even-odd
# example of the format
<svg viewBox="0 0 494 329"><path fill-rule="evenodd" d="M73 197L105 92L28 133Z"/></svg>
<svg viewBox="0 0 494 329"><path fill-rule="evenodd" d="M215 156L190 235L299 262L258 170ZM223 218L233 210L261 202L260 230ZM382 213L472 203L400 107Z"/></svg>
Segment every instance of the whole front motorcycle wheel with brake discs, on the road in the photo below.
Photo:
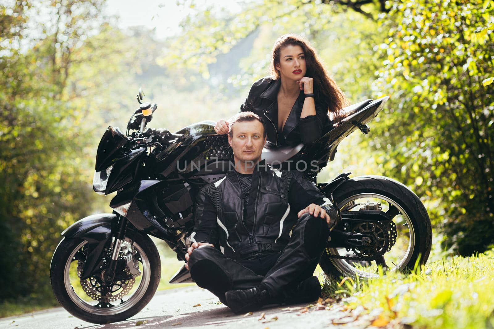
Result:
<svg viewBox="0 0 494 329"><path fill-rule="evenodd" d="M132 243L125 238L120 258L131 251L134 267L141 274L130 275L128 267L120 266L117 272L121 273L116 273L110 288L104 286L101 272L111 257L113 242L102 255L101 272L82 280L87 248L87 241L65 237L51 260L51 287L56 299L70 314L90 323L106 324L124 321L149 303L160 283L161 262L158 250L148 236L137 235Z"/></svg>

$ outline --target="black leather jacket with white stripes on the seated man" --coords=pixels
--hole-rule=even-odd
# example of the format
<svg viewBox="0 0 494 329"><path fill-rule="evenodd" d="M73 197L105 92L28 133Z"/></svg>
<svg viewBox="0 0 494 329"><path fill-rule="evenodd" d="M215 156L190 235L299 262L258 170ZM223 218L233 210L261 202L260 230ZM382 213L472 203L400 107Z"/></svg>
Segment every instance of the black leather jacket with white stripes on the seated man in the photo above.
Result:
<svg viewBox="0 0 494 329"><path fill-rule="evenodd" d="M277 170L261 161L252 175L249 203L236 171L205 185L198 194L192 242L207 242L229 258L281 251L288 244L297 213L311 203L331 216L328 198L302 173Z"/></svg>

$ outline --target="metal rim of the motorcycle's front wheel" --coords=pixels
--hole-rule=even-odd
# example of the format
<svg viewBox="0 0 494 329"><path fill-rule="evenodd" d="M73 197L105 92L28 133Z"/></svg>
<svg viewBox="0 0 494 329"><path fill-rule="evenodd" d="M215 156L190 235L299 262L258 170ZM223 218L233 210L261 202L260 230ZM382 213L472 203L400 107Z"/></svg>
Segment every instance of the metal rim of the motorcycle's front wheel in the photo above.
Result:
<svg viewBox="0 0 494 329"><path fill-rule="evenodd" d="M130 242L130 240L128 240L127 238L125 239L125 241ZM132 290L130 290L130 292L127 295L123 296L123 298L120 300L120 304L117 305L114 304L114 303L119 303L118 301L112 302L110 303L111 305L113 305L112 307L105 308L98 306L100 303L97 300L93 300L89 298L89 296L85 292L83 292L77 273L75 274L74 277L73 263L77 263L77 259L75 259L74 256L86 244L87 241L82 241L72 251L70 257L67 259L67 262L65 263L64 284L70 299L72 299L72 301L83 311L94 315L103 315L103 316L115 315L125 312L126 310L132 308L139 300L142 299L151 281L151 264L144 250L139 246L138 243L134 241L132 246L136 249L136 251L141 256L139 260L139 269L142 274L136 277L136 283L137 283L137 278L139 278L138 286L136 287L134 284Z"/></svg>

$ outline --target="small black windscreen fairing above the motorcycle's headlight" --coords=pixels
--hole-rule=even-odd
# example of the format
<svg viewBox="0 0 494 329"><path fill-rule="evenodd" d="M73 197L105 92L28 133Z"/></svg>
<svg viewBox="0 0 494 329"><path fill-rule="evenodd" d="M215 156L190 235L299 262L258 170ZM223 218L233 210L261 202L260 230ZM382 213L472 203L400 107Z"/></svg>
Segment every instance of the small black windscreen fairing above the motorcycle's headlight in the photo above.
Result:
<svg viewBox="0 0 494 329"><path fill-rule="evenodd" d="M101 137L96 151L96 171L102 171L110 167L116 160L123 157L127 153L124 147L129 142L118 127L109 126Z"/></svg>

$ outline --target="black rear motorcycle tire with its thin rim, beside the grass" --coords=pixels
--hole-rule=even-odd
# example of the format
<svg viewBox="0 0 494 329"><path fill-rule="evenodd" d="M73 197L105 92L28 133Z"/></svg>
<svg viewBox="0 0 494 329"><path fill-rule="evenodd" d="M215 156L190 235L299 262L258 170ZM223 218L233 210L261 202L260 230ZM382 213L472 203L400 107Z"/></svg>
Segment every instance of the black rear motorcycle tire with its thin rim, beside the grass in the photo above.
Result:
<svg viewBox="0 0 494 329"><path fill-rule="evenodd" d="M425 264L432 246L431 222L424 205L410 188L383 176L360 176L342 183L333 191L332 196L340 211L345 207L351 208L352 202L356 204L354 207L362 205L362 203L356 203L356 200L364 200L364 206L366 199L382 200L383 204L394 205L399 210L399 219L406 222L400 225L398 231L400 228L408 230L409 243L408 247L406 243L403 244L403 249L407 248L407 251L400 261L393 262L393 266L387 262L385 264L392 271L403 272L410 272L417 264ZM400 238L400 232L396 239ZM388 252L392 252L393 247ZM343 248L339 250L327 248L323 252L319 265L329 278L351 277L355 279L358 275L360 279L370 279L379 276L377 262L374 267L376 270L372 272L369 269L363 270L362 266L366 264L370 266L372 261L345 260L329 256L344 254ZM383 257L386 257L386 254ZM355 253L349 255L348 250L346 255L357 256Z"/></svg>

